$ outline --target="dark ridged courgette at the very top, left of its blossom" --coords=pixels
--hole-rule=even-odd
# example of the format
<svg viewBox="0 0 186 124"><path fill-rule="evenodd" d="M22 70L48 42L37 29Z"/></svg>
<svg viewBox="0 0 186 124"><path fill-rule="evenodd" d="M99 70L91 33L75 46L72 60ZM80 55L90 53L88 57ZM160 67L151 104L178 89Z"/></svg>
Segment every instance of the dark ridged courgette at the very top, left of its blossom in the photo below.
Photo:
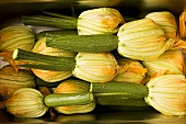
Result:
<svg viewBox="0 0 186 124"><path fill-rule="evenodd" d="M78 19L60 15L55 13L45 12L49 15L23 15L22 22L25 25L37 25L37 26L54 26L66 30L77 30ZM53 15L53 16L50 16Z"/></svg>

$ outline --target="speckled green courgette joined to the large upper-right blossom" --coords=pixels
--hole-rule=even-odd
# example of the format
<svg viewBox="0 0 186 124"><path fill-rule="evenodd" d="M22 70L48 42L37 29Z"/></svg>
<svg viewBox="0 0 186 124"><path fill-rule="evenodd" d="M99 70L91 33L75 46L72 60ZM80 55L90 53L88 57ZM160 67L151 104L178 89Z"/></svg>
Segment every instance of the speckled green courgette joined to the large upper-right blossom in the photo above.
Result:
<svg viewBox="0 0 186 124"><path fill-rule="evenodd" d="M77 53L106 53L118 46L118 37L111 34L98 35L46 35L48 47L61 48Z"/></svg>

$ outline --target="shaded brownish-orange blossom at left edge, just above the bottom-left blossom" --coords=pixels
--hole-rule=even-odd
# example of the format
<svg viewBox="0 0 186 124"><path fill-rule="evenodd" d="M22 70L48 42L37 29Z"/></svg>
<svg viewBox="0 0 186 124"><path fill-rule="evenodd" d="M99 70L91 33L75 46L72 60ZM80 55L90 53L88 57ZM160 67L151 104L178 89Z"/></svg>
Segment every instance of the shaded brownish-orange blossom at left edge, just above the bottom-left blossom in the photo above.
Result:
<svg viewBox="0 0 186 124"><path fill-rule="evenodd" d="M0 69L0 94L9 98L20 88L35 88L35 76L30 70L15 69L7 65Z"/></svg>

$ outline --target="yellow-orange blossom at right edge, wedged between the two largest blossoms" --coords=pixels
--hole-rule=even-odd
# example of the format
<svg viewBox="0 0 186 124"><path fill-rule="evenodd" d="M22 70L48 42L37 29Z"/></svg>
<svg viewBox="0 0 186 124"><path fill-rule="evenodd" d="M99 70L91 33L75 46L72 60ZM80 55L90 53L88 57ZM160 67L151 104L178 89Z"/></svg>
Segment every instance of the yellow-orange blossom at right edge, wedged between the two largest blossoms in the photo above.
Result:
<svg viewBox="0 0 186 124"><path fill-rule="evenodd" d="M142 65L148 69L148 75L159 72L166 75L184 75L184 55L181 49L166 50L156 60L143 60Z"/></svg>

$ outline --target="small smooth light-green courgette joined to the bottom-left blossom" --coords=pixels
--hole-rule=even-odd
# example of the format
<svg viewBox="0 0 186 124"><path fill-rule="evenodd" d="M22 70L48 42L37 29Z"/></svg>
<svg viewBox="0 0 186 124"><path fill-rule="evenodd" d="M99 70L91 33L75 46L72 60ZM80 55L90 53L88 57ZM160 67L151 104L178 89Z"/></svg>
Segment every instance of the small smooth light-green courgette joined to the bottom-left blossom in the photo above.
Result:
<svg viewBox="0 0 186 124"><path fill-rule="evenodd" d="M61 105L83 105L94 100L93 93L53 93L45 97L44 102L47 106Z"/></svg>

